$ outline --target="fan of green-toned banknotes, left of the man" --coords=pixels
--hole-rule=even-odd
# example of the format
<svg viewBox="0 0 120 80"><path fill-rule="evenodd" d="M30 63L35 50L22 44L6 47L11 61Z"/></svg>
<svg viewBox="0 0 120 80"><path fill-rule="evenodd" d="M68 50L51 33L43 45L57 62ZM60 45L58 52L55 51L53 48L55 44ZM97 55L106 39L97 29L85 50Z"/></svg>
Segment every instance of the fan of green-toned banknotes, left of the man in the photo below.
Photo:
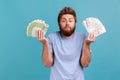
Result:
<svg viewBox="0 0 120 80"><path fill-rule="evenodd" d="M33 20L27 26L27 36L36 37L36 32L38 30L43 30L44 33L48 30L48 24L44 20Z"/></svg>

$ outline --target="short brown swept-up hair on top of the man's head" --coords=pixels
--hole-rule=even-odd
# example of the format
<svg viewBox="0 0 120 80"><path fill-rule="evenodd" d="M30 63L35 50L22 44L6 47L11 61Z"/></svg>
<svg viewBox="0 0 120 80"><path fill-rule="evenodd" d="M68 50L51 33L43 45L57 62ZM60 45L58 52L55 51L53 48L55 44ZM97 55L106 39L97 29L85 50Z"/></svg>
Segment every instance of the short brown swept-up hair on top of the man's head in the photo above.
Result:
<svg viewBox="0 0 120 80"><path fill-rule="evenodd" d="M60 11L60 13L59 13L59 15L58 15L58 23L60 22L60 18L61 18L62 15L64 15L64 14L71 14L71 15L73 15L74 18L75 18L75 22L77 21L77 20L76 20L76 13L75 13L75 11L74 11L72 8L70 8L70 7L64 7L64 8Z"/></svg>

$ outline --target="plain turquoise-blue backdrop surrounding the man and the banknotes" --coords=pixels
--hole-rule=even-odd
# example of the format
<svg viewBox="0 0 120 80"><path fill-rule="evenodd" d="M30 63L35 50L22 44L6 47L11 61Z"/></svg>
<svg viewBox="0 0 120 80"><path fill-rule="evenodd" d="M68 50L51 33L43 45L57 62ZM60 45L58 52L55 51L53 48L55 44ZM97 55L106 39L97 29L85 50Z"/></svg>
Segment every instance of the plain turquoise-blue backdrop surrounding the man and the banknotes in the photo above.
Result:
<svg viewBox="0 0 120 80"><path fill-rule="evenodd" d="M49 80L42 60L42 44L27 37L34 19L49 24L46 36L59 30L57 16L65 7L77 13L77 31L87 34L82 21L99 18L107 32L92 43L92 61L85 80L120 80L120 0L0 0L0 80Z"/></svg>

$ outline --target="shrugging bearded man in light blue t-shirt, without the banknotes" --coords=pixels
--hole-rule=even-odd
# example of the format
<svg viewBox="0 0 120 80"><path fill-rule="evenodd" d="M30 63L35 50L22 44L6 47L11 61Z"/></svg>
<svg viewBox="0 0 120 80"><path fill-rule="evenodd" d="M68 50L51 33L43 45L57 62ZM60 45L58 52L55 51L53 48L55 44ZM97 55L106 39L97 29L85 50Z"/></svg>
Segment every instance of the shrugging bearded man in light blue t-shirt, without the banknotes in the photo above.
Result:
<svg viewBox="0 0 120 80"><path fill-rule="evenodd" d="M90 63L90 43L96 37L93 33L86 37L75 32L76 21L75 11L65 7L58 15L60 31L48 38L43 31L37 32L37 39L43 44L43 63L51 68L50 80L84 80L83 68Z"/></svg>

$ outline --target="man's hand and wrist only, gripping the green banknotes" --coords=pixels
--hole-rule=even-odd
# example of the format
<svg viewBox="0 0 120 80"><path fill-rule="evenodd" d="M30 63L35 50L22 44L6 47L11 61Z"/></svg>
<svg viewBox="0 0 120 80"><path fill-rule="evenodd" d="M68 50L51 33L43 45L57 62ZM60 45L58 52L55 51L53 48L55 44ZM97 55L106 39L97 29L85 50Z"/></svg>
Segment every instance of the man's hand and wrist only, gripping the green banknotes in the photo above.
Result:
<svg viewBox="0 0 120 80"><path fill-rule="evenodd" d="M42 30L38 30L36 32L36 37L37 37L38 41L40 41L43 45L48 42L47 39L45 38L44 32Z"/></svg>

